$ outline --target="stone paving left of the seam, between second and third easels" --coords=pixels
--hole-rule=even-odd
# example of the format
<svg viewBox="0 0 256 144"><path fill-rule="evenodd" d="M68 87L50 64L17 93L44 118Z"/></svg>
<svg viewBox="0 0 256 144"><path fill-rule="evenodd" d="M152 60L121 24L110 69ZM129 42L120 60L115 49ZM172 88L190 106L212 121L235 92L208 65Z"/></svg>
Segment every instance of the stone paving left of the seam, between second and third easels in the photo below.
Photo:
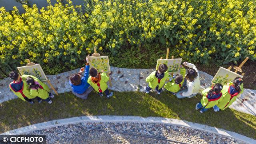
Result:
<svg viewBox="0 0 256 144"><path fill-rule="evenodd" d="M108 84L110 90L118 92L137 91L139 85L139 69L114 68L110 74L111 83Z"/></svg>

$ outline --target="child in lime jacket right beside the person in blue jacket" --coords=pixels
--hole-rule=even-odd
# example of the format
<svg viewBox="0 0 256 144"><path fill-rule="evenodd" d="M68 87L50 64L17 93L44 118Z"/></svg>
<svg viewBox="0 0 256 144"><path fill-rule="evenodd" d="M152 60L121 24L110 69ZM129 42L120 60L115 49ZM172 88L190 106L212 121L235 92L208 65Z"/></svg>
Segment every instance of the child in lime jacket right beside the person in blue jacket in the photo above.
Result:
<svg viewBox="0 0 256 144"><path fill-rule="evenodd" d="M102 70L102 73L98 73L96 68L91 68L89 71L90 77L88 78L88 84L90 84L96 92L103 96L103 92L105 92L106 97L110 98L113 96L113 92L109 92L108 90L108 80L109 77L107 74Z"/></svg>

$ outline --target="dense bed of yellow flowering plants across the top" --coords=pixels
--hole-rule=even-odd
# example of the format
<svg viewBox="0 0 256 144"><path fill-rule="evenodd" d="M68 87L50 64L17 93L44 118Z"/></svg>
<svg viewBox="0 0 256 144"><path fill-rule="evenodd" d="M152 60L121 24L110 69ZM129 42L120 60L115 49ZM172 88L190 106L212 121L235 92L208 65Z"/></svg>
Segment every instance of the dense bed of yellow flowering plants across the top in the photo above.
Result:
<svg viewBox="0 0 256 144"><path fill-rule="evenodd" d="M189 62L256 59L254 1L86 0L85 13L67 1L52 6L48 0L40 13L35 5L24 5L25 14L15 7L12 13L0 9L2 74L26 58L42 64L47 74L77 68L94 47L113 56L111 64L128 51L124 67L150 65L150 56L158 58L168 47L170 55Z"/></svg>

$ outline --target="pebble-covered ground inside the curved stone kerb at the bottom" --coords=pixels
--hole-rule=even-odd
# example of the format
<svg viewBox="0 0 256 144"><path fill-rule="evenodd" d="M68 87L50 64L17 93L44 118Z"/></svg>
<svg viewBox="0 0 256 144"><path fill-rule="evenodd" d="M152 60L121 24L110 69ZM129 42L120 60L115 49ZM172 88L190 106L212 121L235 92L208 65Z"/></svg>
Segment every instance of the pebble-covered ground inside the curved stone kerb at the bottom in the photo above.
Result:
<svg viewBox="0 0 256 144"><path fill-rule="evenodd" d="M85 122L35 130L26 134L46 134L48 144L242 143L234 138L211 132L155 122Z"/></svg>

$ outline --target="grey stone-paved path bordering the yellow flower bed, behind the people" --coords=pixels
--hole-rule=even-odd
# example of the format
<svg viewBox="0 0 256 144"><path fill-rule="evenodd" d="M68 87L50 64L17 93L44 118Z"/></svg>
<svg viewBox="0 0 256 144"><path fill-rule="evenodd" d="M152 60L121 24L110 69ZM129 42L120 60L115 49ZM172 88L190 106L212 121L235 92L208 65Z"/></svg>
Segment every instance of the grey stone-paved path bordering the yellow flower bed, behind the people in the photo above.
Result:
<svg viewBox="0 0 256 144"><path fill-rule="evenodd" d="M111 83L110 90L118 92L122 91L140 91L144 92L144 88L147 86L145 79L154 71L154 69L128 69L110 67ZM53 86L58 93L70 92L70 85L68 78L71 74L78 73L80 68L64 72L56 75L48 75L48 79L51 80ZM199 71L201 86L207 88L211 86L211 80L213 76ZM17 98L9 89L8 84L12 80L5 78L0 80L0 103ZM256 116L256 90L245 89L244 93L234 102L230 108L245 112Z"/></svg>

